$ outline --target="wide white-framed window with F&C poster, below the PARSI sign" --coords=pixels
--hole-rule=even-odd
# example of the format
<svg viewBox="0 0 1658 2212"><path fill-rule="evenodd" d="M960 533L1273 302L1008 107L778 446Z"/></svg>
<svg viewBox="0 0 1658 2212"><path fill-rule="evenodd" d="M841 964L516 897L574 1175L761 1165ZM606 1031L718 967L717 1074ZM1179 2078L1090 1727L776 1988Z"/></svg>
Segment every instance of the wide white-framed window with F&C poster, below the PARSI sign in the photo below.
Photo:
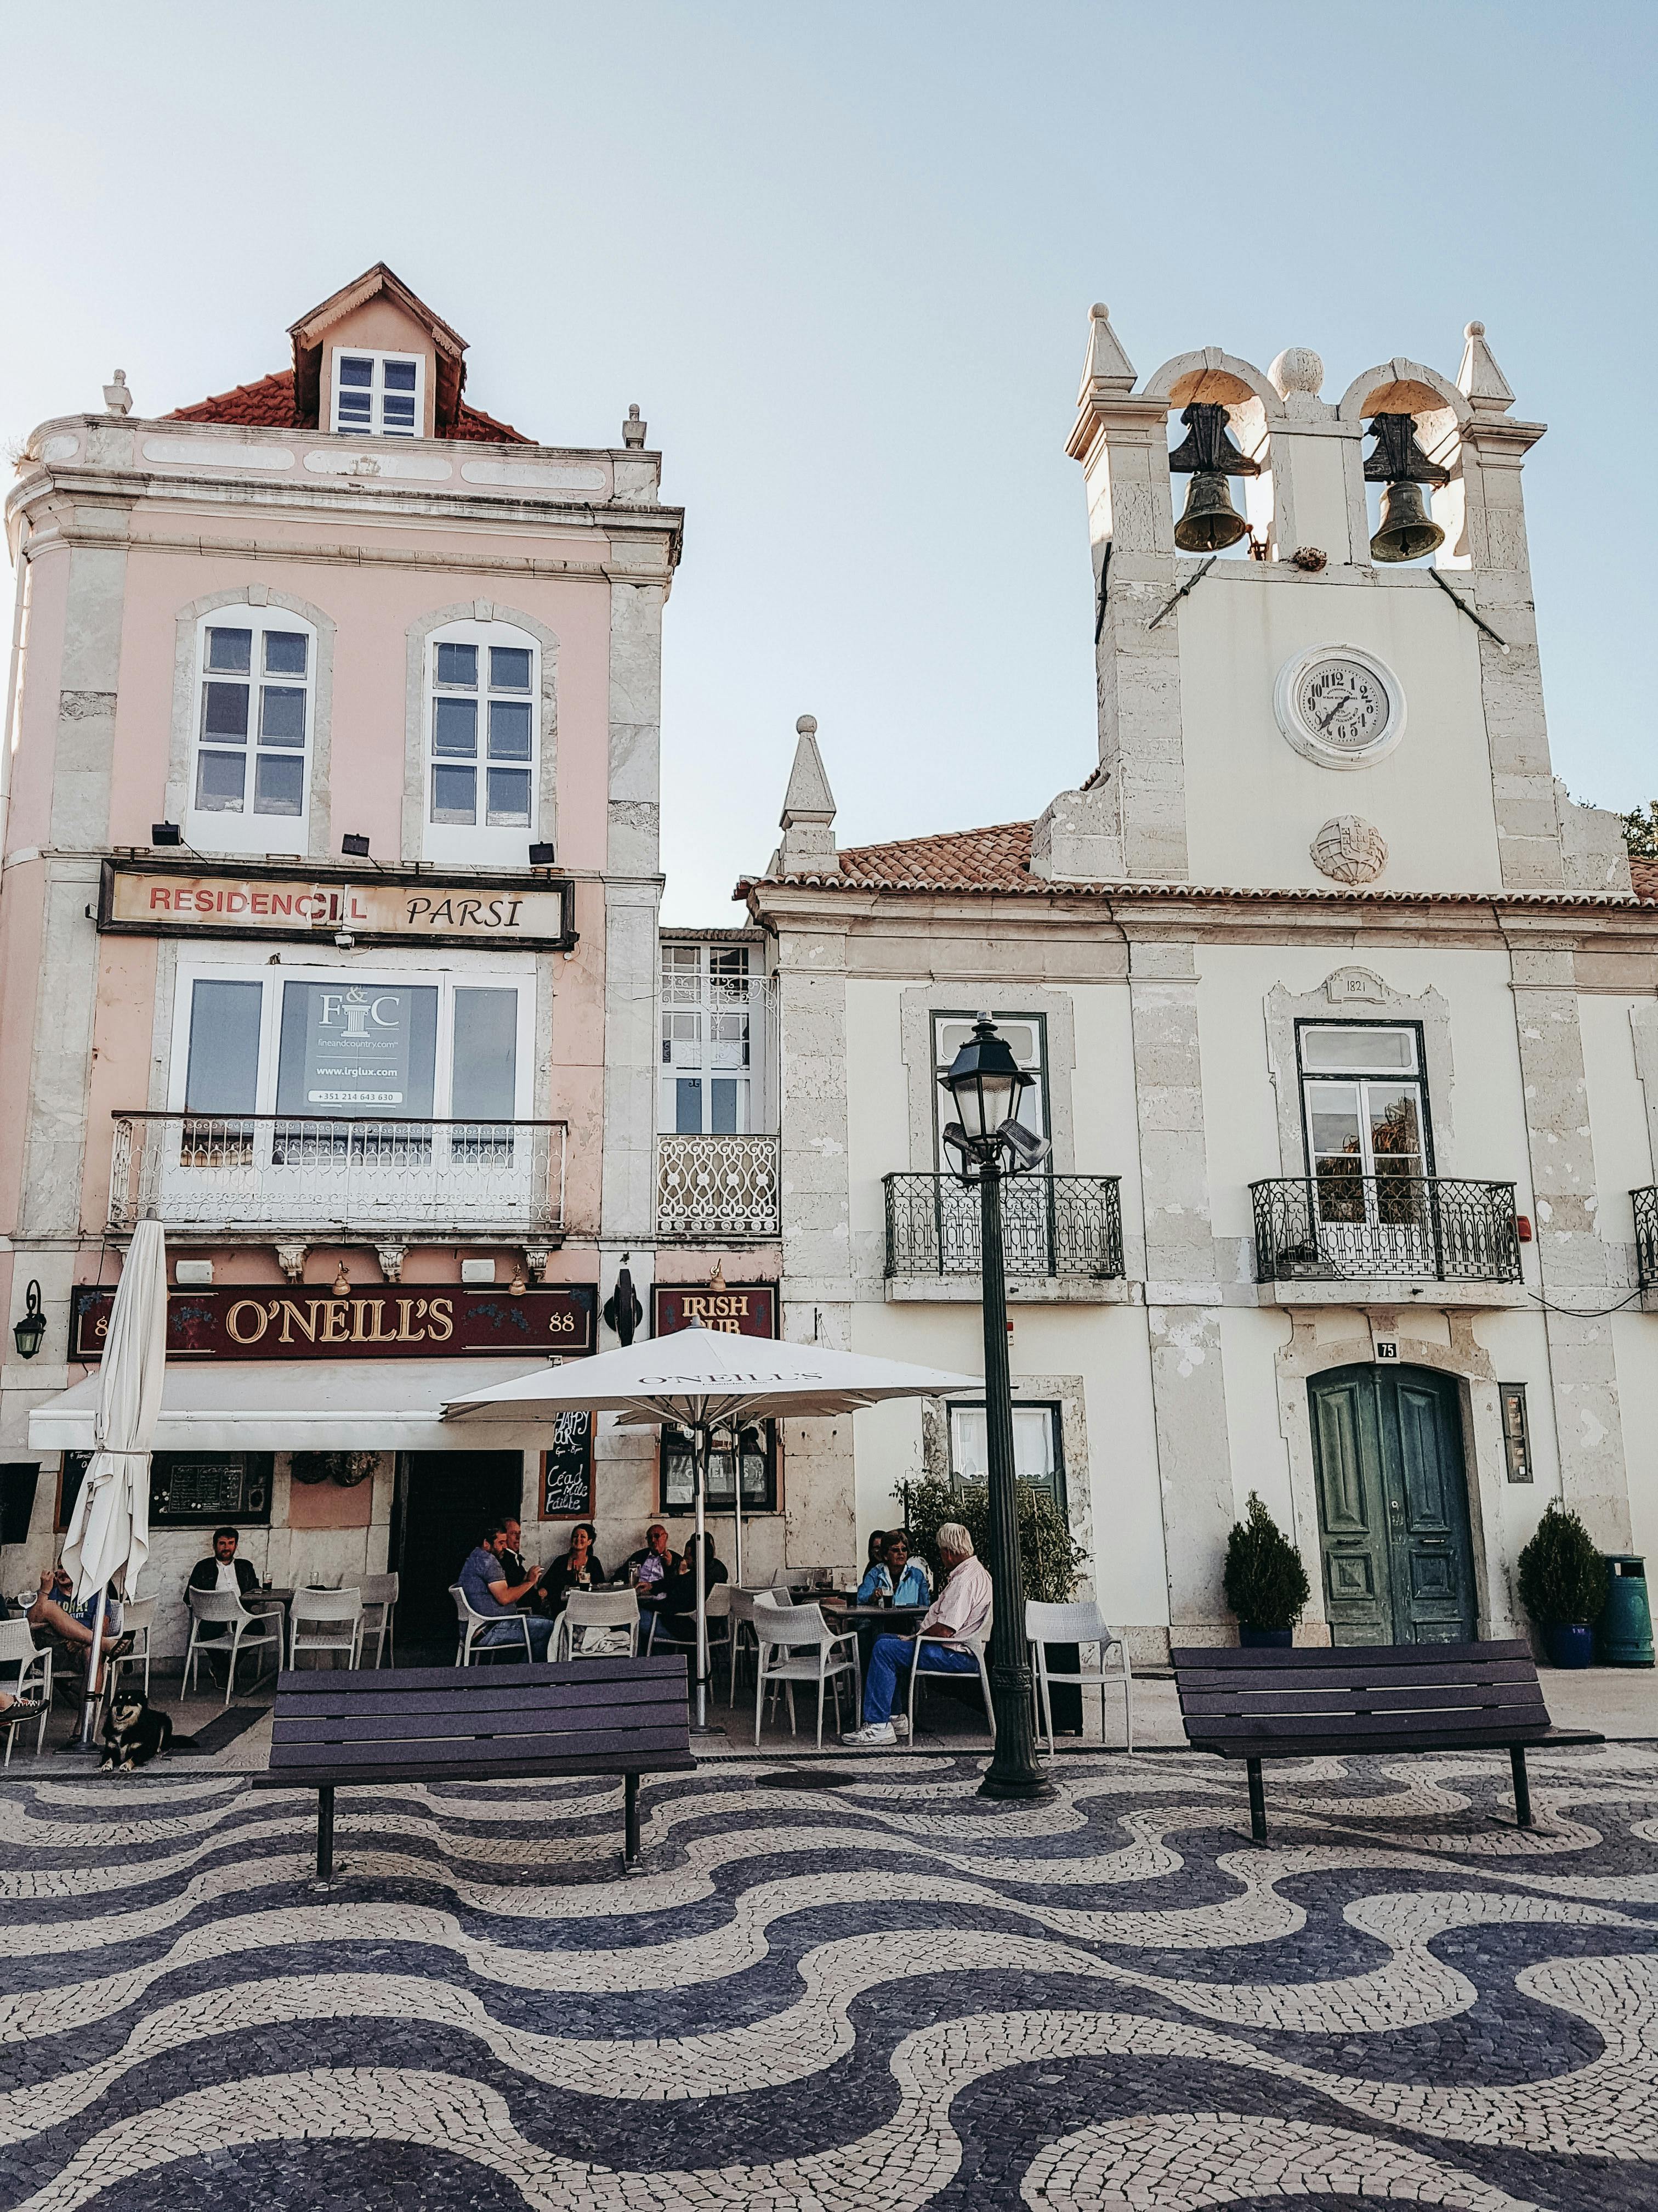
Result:
<svg viewBox="0 0 1658 2212"><path fill-rule="evenodd" d="M533 1044L528 971L190 964L179 973L170 1110L526 1121Z"/></svg>

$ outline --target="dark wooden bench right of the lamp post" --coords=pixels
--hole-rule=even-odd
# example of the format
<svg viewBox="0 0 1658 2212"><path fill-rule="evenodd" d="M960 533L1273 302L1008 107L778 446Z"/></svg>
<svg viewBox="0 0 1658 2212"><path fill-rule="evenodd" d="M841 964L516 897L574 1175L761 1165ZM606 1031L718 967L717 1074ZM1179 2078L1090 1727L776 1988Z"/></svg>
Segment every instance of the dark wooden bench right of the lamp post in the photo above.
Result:
<svg viewBox="0 0 1658 2212"><path fill-rule="evenodd" d="M1554 1728L1525 1644L1357 1644L1335 1650L1176 1650L1174 1681L1194 1752L1242 1759L1249 1832L1267 1840L1262 1759L1333 1752L1508 1750L1514 1814L1532 1825L1525 1750L1605 1743Z"/></svg>

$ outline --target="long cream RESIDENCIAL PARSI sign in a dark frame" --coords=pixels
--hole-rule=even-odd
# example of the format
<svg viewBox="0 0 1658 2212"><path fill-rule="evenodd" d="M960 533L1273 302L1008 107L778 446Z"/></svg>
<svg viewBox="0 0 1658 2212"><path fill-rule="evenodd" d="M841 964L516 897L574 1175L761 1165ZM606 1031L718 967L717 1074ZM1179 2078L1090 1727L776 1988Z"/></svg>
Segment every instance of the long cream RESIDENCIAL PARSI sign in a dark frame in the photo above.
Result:
<svg viewBox="0 0 1658 2212"><path fill-rule="evenodd" d="M146 938L336 938L363 945L575 945L575 887L548 876L106 860L97 927Z"/></svg>

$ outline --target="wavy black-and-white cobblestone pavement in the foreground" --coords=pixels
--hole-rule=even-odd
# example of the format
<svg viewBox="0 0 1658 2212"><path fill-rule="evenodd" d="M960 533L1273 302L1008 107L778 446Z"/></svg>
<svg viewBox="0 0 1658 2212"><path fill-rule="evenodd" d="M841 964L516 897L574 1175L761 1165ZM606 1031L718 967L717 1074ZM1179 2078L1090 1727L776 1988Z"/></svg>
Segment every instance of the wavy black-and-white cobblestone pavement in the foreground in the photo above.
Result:
<svg viewBox="0 0 1658 2212"><path fill-rule="evenodd" d="M0 2208L1658 2205L1651 1747L836 1772L11 1781Z"/></svg>

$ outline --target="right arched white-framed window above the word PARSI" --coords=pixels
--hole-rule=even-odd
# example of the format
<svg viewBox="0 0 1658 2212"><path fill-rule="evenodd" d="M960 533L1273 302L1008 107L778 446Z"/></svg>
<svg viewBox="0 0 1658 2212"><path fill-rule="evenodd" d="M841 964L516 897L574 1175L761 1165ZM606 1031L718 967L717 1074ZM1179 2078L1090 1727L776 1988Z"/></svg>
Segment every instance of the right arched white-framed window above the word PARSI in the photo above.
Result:
<svg viewBox="0 0 1658 2212"><path fill-rule="evenodd" d="M429 860L524 867L542 765L542 648L506 622L451 622L427 641Z"/></svg>

